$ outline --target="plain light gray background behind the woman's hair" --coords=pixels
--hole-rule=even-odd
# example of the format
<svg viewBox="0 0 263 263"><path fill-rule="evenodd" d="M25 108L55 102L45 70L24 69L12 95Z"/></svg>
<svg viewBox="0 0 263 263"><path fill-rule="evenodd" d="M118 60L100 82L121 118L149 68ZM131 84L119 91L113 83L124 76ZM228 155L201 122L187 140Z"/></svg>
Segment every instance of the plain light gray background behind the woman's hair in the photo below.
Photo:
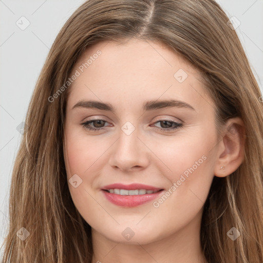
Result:
<svg viewBox="0 0 263 263"><path fill-rule="evenodd" d="M21 140L17 126L25 120L34 85L55 36L84 2L0 0L0 245L8 227L10 179ZM263 0L217 2L229 17L241 22L236 31L262 92ZM30 22L25 30L16 25L21 16Z"/></svg>

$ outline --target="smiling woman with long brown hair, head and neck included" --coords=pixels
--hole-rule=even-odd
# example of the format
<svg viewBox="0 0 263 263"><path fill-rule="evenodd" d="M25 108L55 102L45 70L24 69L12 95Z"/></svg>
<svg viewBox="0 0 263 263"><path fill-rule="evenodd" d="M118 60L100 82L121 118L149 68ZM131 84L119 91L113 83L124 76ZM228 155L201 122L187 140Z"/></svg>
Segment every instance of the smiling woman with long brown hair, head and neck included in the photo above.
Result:
<svg viewBox="0 0 263 263"><path fill-rule="evenodd" d="M55 39L3 262L262 262L263 112L211 0L84 3Z"/></svg>

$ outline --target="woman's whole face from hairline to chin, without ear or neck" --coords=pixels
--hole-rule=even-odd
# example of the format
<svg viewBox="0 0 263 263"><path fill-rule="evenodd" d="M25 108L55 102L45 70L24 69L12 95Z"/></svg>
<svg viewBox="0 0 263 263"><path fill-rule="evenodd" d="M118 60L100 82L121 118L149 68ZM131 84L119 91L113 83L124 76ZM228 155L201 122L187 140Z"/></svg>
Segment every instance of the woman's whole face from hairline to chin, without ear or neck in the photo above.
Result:
<svg viewBox="0 0 263 263"><path fill-rule="evenodd" d="M89 47L72 75L64 157L93 234L140 244L193 235L219 152L199 72L162 44L130 40Z"/></svg>

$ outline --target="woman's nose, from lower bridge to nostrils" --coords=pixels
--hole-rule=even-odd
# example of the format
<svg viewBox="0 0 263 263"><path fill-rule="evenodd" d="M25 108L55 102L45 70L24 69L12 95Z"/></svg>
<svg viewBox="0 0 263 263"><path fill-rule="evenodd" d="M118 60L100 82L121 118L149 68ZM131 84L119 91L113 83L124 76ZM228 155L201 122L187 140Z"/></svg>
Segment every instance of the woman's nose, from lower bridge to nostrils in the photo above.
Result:
<svg viewBox="0 0 263 263"><path fill-rule="evenodd" d="M149 164L149 149L138 138L137 129L130 135L120 130L119 139L111 147L109 164L124 172L140 171Z"/></svg>

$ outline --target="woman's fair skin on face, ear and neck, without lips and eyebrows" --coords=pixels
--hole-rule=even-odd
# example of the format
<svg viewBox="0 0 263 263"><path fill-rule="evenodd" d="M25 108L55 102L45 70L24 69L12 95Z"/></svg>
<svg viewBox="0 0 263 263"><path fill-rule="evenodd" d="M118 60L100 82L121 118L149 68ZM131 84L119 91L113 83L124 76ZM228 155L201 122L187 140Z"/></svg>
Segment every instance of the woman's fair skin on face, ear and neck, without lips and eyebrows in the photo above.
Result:
<svg viewBox="0 0 263 263"><path fill-rule="evenodd" d="M76 188L68 185L92 229L92 263L203 263L203 205L213 177L230 175L243 161L243 123L228 120L229 128L218 137L215 105L199 72L160 43L101 42L86 50L72 72L98 49L101 55L70 86L64 137L67 179L75 174L82 179ZM174 77L179 69L188 75L181 83ZM110 103L116 111L73 108L81 100ZM157 100L179 100L194 109L143 110L143 103ZM105 122L88 125L98 132L82 125L98 119ZM135 127L129 135L122 129L126 122ZM182 126L167 130L173 122ZM176 191L154 206L191 167L194 172L177 183ZM104 196L102 187L112 183L142 183L163 191L152 201L123 207ZM126 228L134 234L129 240L122 234Z"/></svg>

